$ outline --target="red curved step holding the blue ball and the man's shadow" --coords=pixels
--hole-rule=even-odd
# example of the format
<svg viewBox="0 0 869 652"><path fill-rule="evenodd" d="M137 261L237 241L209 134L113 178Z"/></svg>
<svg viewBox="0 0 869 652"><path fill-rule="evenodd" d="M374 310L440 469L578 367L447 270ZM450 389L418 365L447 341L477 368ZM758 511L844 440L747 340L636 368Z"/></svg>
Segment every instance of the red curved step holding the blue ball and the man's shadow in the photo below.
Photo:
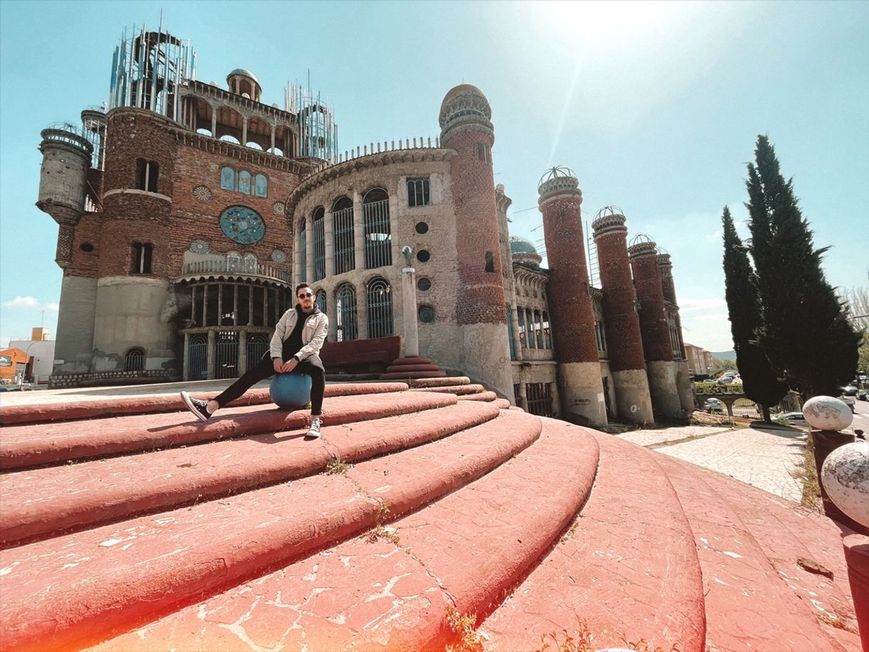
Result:
<svg viewBox="0 0 869 652"><path fill-rule="evenodd" d="M455 401L455 396L449 394L409 391L335 396L323 402L322 418L327 425L350 423L441 408ZM10 426L3 429L0 437L0 469L20 469L281 432L303 428L308 421L308 410L288 412L269 403L222 409L204 423L185 409L182 413Z"/></svg>

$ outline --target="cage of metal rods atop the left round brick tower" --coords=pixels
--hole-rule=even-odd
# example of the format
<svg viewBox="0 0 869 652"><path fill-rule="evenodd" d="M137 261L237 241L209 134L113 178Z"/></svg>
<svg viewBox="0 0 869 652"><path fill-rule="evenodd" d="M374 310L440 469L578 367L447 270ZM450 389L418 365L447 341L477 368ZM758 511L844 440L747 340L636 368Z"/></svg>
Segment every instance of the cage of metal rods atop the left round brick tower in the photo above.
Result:
<svg viewBox="0 0 869 652"><path fill-rule="evenodd" d="M196 52L163 31L134 26L124 30L112 57L109 109L130 106L155 111L176 120L180 116L182 83L196 79Z"/></svg>

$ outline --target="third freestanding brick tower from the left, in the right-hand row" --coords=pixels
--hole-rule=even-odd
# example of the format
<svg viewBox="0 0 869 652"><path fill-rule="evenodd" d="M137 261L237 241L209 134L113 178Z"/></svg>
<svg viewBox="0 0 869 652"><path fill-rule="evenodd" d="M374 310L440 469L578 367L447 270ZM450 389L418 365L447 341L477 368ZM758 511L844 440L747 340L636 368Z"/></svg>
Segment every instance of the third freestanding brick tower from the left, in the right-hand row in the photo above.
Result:
<svg viewBox="0 0 869 652"><path fill-rule="evenodd" d="M653 408L667 418L681 415L681 402L673 369L673 345L667 326L664 289L658 274L658 254L647 236L637 236L627 249L634 272L634 288L640 303L640 332Z"/></svg>

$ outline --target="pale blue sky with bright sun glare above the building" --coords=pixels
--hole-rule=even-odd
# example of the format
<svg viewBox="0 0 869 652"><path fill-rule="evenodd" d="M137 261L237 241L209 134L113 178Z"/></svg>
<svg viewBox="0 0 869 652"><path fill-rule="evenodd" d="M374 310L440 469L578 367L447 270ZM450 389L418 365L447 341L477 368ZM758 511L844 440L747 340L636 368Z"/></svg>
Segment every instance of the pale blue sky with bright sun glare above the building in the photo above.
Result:
<svg viewBox="0 0 869 652"><path fill-rule="evenodd" d="M36 209L39 132L109 93L123 28L189 39L197 78L254 71L335 106L342 150L436 136L441 99L492 106L512 232L541 241L537 183L567 165L583 217L614 204L673 256L685 339L732 348L720 215L746 218L746 163L770 136L835 286L869 270L869 3L0 2L0 347L56 333L56 223ZM740 232L746 236L744 227ZM541 253L542 244L540 244Z"/></svg>

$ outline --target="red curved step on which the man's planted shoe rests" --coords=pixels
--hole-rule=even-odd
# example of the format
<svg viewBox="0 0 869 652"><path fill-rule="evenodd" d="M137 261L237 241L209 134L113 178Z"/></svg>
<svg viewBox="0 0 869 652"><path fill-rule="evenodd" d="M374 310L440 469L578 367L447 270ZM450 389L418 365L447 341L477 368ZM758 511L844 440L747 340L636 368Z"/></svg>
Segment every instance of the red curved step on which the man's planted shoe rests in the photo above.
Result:
<svg viewBox="0 0 869 652"><path fill-rule="evenodd" d="M359 462L473 428L498 416L487 403L166 449L0 476L0 544L9 546L122 517L228 496L320 473L332 459Z"/></svg>

